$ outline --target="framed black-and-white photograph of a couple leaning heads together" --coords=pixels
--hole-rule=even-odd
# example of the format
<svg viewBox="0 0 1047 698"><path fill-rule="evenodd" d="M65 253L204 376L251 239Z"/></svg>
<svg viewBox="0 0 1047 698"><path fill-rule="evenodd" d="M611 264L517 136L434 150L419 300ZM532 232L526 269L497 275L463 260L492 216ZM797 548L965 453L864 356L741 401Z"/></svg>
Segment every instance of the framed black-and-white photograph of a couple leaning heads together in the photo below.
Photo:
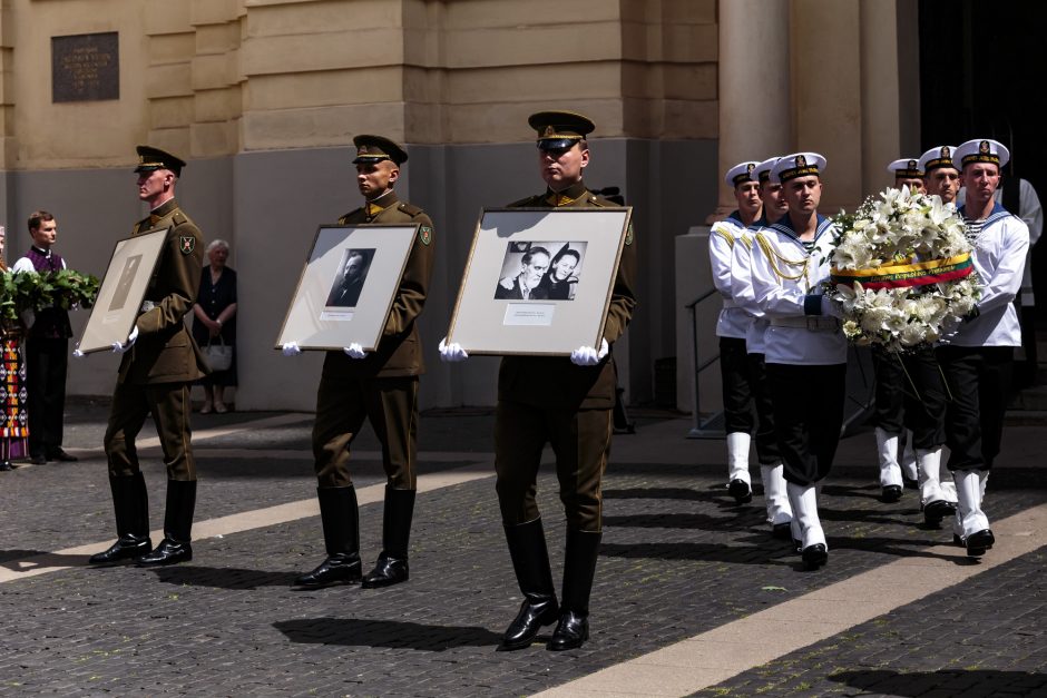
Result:
<svg viewBox="0 0 1047 698"><path fill-rule="evenodd" d="M448 342L470 354L598 347L630 207L483 209Z"/></svg>

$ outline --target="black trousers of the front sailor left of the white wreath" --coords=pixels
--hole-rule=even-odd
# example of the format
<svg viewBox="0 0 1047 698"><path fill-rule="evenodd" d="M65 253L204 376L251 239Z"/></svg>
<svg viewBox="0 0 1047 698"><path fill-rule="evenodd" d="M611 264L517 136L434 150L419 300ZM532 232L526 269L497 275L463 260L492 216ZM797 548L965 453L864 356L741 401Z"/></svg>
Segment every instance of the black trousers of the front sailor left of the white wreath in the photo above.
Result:
<svg viewBox="0 0 1047 698"><path fill-rule="evenodd" d="M767 363L774 426L787 482L814 484L832 469L843 426L845 381L847 364Z"/></svg>

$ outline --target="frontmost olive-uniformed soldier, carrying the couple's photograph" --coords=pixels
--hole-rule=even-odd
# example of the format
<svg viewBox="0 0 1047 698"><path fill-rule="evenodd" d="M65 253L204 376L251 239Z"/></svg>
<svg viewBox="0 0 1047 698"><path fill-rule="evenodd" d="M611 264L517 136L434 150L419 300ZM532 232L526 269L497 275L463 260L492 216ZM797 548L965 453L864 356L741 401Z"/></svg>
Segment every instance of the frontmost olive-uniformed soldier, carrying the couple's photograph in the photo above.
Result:
<svg viewBox="0 0 1047 698"><path fill-rule="evenodd" d="M548 188L511 204L531 208L616 206L589 191L581 180L589 163L588 118L542 111L528 124L538 132L538 167ZM615 240L608 239L608 244ZM610 451L611 411L617 375L610 345L622 336L636 298L633 291L636 245L628 230L600 347L579 347L566 356L506 356L498 373L495 419L496 489L509 556L524 603L499 649L531 645L542 626L558 621L547 648L580 647L589 637L589 592L603 524L600 480ZM443 345L446 361L461 361L457 344ZM557 604L549 554L535 501L546 443L556 453L560 500L567 517L564 588Z"/></svg>

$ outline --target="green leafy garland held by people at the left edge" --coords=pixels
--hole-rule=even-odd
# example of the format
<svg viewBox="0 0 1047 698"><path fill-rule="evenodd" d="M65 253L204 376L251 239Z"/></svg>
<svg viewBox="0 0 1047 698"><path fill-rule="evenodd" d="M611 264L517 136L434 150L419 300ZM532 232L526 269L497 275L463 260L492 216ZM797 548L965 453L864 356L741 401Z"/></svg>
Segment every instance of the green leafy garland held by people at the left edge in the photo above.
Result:
<svg viewBox="0 0 1047 698"><path fill-rule="evenodd" d="M90 307L98 295L98 278L72 269L3 272L0 274L0 319L18 321L26 311Z"/></svg>

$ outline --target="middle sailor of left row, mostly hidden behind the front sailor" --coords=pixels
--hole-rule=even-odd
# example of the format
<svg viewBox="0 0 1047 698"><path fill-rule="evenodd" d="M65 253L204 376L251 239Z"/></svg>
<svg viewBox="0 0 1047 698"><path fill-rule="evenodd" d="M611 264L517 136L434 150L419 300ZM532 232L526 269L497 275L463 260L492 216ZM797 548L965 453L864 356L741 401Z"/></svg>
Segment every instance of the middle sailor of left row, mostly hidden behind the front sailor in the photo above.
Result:
<svg viewBox="0 0 1047 698"><path fill-rule="evenodd" d="M775 538L789 540L800 539L799 524L795 531L790 531L793 520L792 507L789 505L789 495L785 492L785 476L782 466L782 455L777 448L777 434L774 431L774 407L771 403L771 391L767 386L767 371L764 363L764 338L767 330L767 319L755 303L753 295L752 255L753 239L756 233L779 219L789 210L781 183L771 183L771 168L777 163L772 157L753 170L753 176L760 181L760 198L763 200L763 213L753 222L731 250L731 292L735 304L753 317L745 335L745 351L748 360L748 375L753 387L753 403L756 406L756 460L760 463L760 479L763 481L764 503L767 510L767 523Z"/></svg>

